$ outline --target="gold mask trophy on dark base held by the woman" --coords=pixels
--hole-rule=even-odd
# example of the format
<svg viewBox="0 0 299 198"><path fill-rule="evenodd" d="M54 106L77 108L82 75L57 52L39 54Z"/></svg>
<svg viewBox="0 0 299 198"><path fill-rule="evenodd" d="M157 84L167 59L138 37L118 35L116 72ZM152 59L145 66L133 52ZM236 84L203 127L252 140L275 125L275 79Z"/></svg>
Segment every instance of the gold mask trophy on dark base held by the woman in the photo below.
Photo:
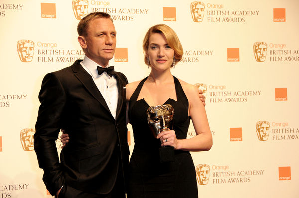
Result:
<svg viewBox="0 0 299 198"><path fill-rule="evenodd" d="M165 130L172 130L174 109L170 104L151 106L147 110L149 128L154 137ZM174 147L159 148L160 162L174 161Z"/></svg>

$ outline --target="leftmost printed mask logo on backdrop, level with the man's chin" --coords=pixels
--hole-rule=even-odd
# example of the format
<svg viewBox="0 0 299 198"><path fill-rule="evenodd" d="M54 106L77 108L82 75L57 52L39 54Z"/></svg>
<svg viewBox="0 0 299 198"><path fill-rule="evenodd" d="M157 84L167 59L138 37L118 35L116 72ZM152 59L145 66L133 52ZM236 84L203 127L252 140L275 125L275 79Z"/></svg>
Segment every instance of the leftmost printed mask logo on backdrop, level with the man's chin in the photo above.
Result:
<svg viewBox="0 0 299 198"><path fill-rule="evenodd" d="M19 40L16 45L20 60L22 62L31 62L34 54L34 42L31 40Z"/></svg>

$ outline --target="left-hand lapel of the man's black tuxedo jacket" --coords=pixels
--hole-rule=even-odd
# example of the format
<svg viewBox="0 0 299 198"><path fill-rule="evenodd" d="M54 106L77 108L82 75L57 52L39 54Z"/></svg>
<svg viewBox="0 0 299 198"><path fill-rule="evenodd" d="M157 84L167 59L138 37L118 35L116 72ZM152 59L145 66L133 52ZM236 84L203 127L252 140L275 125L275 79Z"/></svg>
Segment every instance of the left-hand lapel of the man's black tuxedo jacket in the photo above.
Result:
<svg viewBox="0 0 299 198"><path fill-rule="evenodd" d="M83 69L83 67L80 64L80 61L77 60L72 65L72 69L75 76L84 85L87 91L102 104L102 106L109 112L109 114L111 114L104 97L102 96L101 92L92 80L92 77Z"/></svg>

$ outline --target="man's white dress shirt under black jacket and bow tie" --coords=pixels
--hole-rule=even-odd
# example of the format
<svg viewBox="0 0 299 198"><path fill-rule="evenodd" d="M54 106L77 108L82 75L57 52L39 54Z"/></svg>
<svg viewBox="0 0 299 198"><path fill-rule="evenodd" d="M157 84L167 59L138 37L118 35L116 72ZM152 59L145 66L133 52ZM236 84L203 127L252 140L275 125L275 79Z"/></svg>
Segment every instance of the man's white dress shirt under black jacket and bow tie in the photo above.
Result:
<svg viewBox="0 0 299 198"><path fill-rule="evenodd" d="M110 77L106 72L103 72L101 75L99 75L97 66L101 66L89 59L87 56L84 57L83 61L81 61L80 64L92 76L92 79L94 80L96 86L104 97L109 110L115 119L119 94L115 76ZM108 66L109 64L107 65L107 67Z"/></svg>

